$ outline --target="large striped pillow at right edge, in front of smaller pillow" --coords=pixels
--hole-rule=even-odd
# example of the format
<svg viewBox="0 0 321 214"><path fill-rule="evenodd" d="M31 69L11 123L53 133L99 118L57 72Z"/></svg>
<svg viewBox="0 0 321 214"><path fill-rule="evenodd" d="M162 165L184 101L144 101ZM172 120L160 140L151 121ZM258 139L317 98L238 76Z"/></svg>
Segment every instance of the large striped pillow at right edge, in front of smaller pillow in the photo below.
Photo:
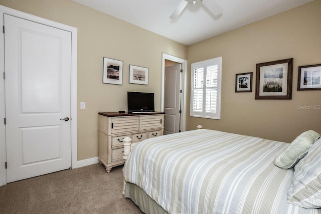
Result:
<svg viewBox="0 0 321 214"><path fill-rule="evenodd" d="M321 207L321 139L295 165L287 202L304 208Z"/></svg>

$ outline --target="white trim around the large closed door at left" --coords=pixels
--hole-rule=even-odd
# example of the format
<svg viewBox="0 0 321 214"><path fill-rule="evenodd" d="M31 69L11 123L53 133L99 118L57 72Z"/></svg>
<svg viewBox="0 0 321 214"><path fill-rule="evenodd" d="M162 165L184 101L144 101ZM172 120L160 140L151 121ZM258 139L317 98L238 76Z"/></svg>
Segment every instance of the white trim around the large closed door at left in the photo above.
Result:
<svg viewBox="0 0 321 214"><path fill-rule="evenodd" d="M32 22L59 28L71 32L71 167L77 168L77 28L67 26L61 23L50 21L41 17L36 17L17 11L11 8L0 6L0 22L4 26L4 14L9 14ZM0 44L4 43L4 34L1 33ZM0 121L6 117L5 111L5 80L3 72L5 71L4 46L0 47ZM7 170L5 162L6 155L6 126L0 122L0 186L7 184Z"/></svg>

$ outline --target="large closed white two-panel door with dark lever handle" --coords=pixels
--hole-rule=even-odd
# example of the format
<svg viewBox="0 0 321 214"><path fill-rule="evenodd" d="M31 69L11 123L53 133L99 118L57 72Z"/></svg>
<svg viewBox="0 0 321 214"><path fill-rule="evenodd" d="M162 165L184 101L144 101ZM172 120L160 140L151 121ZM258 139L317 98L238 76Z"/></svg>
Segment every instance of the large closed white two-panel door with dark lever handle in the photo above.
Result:
<svg viewBox="0 0 321 214"><path fill-rule="evenodd" d="M5 22L7 182L71 166L71 33Z"/></svg>

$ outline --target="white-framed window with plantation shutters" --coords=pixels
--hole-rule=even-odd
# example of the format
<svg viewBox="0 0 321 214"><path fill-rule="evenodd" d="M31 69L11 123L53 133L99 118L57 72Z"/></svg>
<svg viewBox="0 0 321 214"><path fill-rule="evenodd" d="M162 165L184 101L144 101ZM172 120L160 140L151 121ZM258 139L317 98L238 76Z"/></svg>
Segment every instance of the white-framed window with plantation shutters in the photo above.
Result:
<svg viewBox="0 0 321 214"><path fill-rule="evenodd" d="M220 119L222 57L192 64L191 116Z"/></svg>

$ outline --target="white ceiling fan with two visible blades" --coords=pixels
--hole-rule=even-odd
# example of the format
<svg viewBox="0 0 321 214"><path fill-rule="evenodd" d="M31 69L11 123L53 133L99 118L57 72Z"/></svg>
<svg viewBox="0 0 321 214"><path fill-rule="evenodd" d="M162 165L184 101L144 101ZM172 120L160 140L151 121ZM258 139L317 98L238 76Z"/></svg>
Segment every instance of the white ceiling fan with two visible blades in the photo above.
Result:
<svg viewBox="0 0 321 214"><path fill-rule="evenodd" d="M217 16L222 13L223 9L216 4L214 0L182 0L179 6L175 9L173 14L170 16L170 19L174 20L180 16L182 11L188 4L196 5L197 3L203 3L207 9L214 15Z"/></svg>

